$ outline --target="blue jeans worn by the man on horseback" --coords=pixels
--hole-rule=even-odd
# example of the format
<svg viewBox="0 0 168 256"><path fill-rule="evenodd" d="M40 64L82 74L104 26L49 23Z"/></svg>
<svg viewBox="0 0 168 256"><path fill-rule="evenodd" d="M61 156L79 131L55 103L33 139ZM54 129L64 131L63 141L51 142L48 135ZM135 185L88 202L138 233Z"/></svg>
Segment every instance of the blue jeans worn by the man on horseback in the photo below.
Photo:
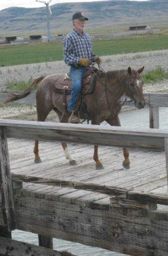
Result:
<svg viewBox="0 0 168 256"><path fill-rule="evenodd" d="M75 103L77 101L77 98L79 96L81 87L82 87L82 79L83 75L85 73L85 70L87 70L89 67L84 68L70 68L70 78L72 80L72 93L70 95L70 101L68 105L68 110L73 111L75 108Z"/></svg>

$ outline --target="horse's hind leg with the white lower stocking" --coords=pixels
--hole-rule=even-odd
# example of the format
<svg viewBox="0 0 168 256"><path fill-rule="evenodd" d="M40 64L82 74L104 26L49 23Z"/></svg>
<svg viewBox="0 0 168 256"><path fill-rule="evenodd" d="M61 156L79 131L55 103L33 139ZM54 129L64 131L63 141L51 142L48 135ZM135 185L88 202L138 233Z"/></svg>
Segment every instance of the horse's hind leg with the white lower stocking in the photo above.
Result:
<svg viewBox="0 0 168 256"><path fill-rule="evenodd" d="M53 110L58 114L59 120L61 119L62 113L57 109L57 108L53 108ZM69 117L64 115L62 117L61 123L68 123ZM66 142L62 142L62 148L64 150L64 154L67 160L69 160L70 165L77 165L77 162L75 161L75 159L70 155L69 153L69 149L67 147L67 143Z"/></svg>

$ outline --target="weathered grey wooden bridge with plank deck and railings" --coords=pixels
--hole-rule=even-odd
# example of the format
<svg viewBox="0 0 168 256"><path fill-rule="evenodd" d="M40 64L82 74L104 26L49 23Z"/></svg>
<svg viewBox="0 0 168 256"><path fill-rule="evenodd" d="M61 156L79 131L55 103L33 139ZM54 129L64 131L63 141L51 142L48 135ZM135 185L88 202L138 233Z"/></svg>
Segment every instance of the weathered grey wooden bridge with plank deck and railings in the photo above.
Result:
<svg viewBox="0 0 168 256"><path fill-rule="evenodd" d="M158 128L167 97L146 95L150 127ZM0 119L0 135L0 255L71 255L53 250L53 237L133 256L168 255L168 130ZM69 142L77 166L60 142ZM95 169L93 145L104 170ZM122 168L122 147L130 170ZM43 247L11 239L15 228L37 233Z"/></svg>

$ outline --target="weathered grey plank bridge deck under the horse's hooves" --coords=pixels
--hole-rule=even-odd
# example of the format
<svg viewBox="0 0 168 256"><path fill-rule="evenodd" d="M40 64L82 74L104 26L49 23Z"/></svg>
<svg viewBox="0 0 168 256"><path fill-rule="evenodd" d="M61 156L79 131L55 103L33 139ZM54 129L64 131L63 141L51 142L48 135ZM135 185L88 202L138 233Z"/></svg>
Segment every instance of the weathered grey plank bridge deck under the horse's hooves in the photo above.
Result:
<svg viewBox="0 0 168 256"><path fill-rule="evenodd" d="M42 163L36 164L34 141L8 139L11 173L167 194L165 152L130 149L131 168L126 170L122 167L122 148L100 146L98 153L104 170L96 170L94 146L71 143L68 147L76 166L69 165L59 142L39 142Z"/></svg>

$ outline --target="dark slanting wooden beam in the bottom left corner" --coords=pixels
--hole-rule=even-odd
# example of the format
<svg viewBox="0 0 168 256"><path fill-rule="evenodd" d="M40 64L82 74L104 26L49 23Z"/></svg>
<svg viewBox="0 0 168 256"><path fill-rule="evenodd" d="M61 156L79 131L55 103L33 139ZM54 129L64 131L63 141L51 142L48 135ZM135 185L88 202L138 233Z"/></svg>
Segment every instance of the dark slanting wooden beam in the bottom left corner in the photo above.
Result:
<svg viewBox="0 0 168 256"><path fill-rule="evenodd" d="M67 251L56 251L3 237L0 238L0 253L8 256L75 256Z"/></svg>

